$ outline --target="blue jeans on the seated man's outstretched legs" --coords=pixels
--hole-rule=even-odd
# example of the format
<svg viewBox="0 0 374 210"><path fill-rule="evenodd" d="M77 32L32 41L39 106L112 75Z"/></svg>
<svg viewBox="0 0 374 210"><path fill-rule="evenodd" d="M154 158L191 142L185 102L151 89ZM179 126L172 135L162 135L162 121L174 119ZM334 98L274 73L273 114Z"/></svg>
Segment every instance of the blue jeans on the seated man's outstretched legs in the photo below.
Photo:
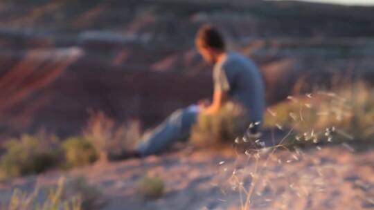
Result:
<svg viewBox="0 0 374 210"><path fill-rule="evenodd" d="M196 105L175 111L148 137L141 140L136 150L141 156L159 153L173 142L188 138L198 113L199 108Z"/></svg>

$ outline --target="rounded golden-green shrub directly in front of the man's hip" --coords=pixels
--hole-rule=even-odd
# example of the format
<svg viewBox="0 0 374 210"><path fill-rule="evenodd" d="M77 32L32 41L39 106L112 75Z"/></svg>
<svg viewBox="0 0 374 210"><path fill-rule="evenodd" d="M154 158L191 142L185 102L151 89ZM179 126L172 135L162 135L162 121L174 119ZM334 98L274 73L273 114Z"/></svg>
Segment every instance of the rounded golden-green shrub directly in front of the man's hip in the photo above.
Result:
<svg viewBox="0 0 374 210"><path fill-rule="evenodd" d="M232 144L249 126L247 113L239 104L227 102L215 115L200 113L193 125L190 142L196 146Z"/></svg>

